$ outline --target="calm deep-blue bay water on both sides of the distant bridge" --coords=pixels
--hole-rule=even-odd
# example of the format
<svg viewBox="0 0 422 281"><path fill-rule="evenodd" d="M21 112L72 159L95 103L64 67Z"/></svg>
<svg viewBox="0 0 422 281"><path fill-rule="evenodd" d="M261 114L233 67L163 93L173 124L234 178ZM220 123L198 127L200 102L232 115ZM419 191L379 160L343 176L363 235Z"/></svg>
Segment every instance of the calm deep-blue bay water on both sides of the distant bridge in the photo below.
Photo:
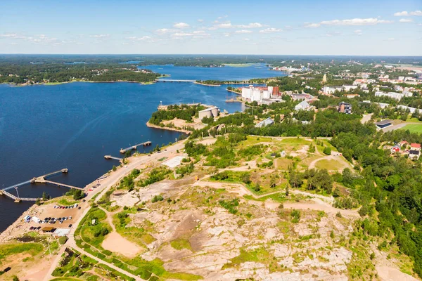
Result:
<svg viewBox="0 0 422 281"><path fill-rule="evenodd" d="M216 73L227 72L226 68L241 70L245 74L245 69L238 67L166 65L163 68L166 70L154 70L179 79L205 79L203 75L207 71L215 75L209 79L223 79L224 74L218 76ZM185 72L186 68L197 70L198 77ZM259 69L252 77L267 77L265 71L261 71ZM228 79L250 78L237 75L240 75L239 78L232 78L236 76L234 74ZM143 141L152 141L153 145L146 150L140 148L140 152L148 152L157 144L174 142L179 133L151 129L145 125L160 101L162 104L201 102L217 105L229 112L241 110L239 103L224 102L226 96L232 95L226 91L226 86L168 82L153 85L0 85L0 188L63 168L68 168L69 174L56 176L53 181L84 187L106 173L113 164L119 164L104 159L104 155L119 156L120 148ZM49 185L27 185L19 188L19 195L39 197L46 191L56 197L67 190ZM15 193L15 190L9 191ZM15 204L11 199L0 196L0 231L13 223L31 204Z"/></svg>

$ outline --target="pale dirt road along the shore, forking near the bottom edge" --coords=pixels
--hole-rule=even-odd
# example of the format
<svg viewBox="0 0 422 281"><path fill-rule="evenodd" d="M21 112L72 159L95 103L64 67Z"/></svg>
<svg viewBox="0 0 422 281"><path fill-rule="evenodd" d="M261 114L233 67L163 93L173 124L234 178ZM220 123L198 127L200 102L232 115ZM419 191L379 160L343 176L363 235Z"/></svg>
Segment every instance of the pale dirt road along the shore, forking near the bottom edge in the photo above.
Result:
<svg viewBox="0 0 422 281"><path fill-rule="evenodd" d="M95 202L98 202L98 200L100 200L101 197L103 197L103 195L108 190L110 190L110 188L113 187L113 185L115 185L117 182L119 182L120 179L123 178L124 176L127 176L127 174L129 174L133 169L136 169L136 167L138 167L142 164L155 162L162 157L170 158L172 155L175 155L177 153L177 150L182 150L184 148L184 142L185 141L179 141L178 143L175 143L174 145L170 145L168 148L165 148L167 151L163 150L160 153L155 152L152 155L143 155L143 156L140 156L140 157L130 157L129 158L129 164L127 164L126 166L120 167L119 169L117 169L117 171L113 171L110 174L110 176L100 180L99 183L101 183L101 185L98 188L94 189L92 192L90 192L87 195L87 197L85 198L85 200L87 200L87 202L88 202L92 197L94 197L96 194L99 193L98 196L96 197L96 200L95 200ZM97 184L97 181L94 181L89 186L96 185L96 184ZM99 262L105 264L106 266L110 266L110 268L113 268L113 269L117 270L118 272L120 272L122 274L125 274L125 275L130 276L130 277L134 277L136 280L142 280L141 278L139 278L135 275L132 275L131 273L128 273L127 271L122 270L121 268L118 268L117 266L114 266L111 263L107 263L106 261L103 261L101 259L96 258L95 256L92 256L91 254L84 251L84 249L77 247L77 244L75 242L75 237L74 237L75 230L76 230L77 226L79 226L79 223L82 221L82 218L84 218L84 216L87 215L89 209L91 209L91 207L85 208L84 211L82 212L82 214L79 216L79 218L77 218L77 221L74 223L74 226L70 230L70 233L68 235L68 237L69 237L68 242L63 244L63 246L59 249L59 254L58 254L58 256L56 256L55 259L53 259L53 262L51 263L49 271L46 274L46 276L44 277L44 281L49 281L53 278L53 276L51 276L51 273L53 273L53 270L58 266L58 263L61 260L61 254L63 254L63 251L68 246L76 249L77 251L81 252L82 254L86 254L87 256L91 257L92 259L95 259L96 261L99 261Z"/></svg>

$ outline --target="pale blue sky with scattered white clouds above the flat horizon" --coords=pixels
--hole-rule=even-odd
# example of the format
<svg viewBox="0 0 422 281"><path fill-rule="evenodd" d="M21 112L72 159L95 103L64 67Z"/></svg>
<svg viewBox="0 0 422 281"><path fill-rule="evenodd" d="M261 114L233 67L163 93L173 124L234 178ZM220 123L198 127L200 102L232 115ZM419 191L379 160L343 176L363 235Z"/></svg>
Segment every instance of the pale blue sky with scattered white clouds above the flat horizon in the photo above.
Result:
<svg viewBox="0 0 422 281"><path fill-rule="evenodd" d="M0 10L0 53L422 55L422 0L14 0Z"/></svg>

